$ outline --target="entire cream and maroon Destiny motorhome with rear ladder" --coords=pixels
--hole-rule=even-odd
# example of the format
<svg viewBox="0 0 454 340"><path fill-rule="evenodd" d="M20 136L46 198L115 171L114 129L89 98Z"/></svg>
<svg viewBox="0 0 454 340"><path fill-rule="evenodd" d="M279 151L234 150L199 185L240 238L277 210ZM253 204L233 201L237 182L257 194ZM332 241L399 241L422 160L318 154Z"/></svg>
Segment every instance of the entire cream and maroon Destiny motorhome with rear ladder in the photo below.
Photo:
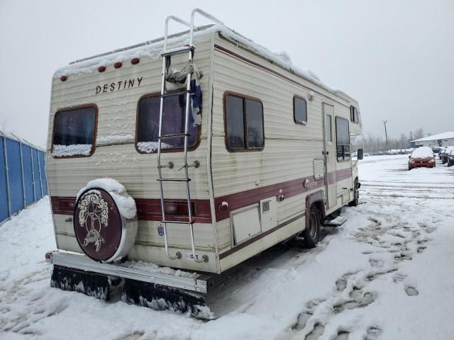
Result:
<svg viewBox="0 0 454 340"><path fill-rule="evenodd" d="M175 21L188 30L169 35ZM204 294L289 237L315 246L326 216L358 204L361 131L358 101L199 9L167 18L164 38L72 62L52 78L52 285Z"/></svg>

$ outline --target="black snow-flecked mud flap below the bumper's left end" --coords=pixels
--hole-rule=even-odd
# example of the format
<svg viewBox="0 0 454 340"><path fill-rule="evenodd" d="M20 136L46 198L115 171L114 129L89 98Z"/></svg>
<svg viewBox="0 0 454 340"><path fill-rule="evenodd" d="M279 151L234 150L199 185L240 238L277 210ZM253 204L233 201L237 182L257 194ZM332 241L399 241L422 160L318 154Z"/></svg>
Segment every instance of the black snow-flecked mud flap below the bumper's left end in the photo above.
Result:
<svg viewBox="0 0 454 340"><path fill-rule="evenodd" d="M89 271L54 265L50 287L84 293L96 299L110 299L109 278Z"/></svg>

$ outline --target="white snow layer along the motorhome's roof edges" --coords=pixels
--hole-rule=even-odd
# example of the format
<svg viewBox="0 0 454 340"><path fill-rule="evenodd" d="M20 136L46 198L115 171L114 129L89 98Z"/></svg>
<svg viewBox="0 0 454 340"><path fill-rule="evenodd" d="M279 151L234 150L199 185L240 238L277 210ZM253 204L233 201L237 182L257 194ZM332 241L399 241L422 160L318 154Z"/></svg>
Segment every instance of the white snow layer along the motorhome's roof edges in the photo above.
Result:
<svg viewBox="0 0 454 340"><path fill-rule="evenodd" d="M326 85L319 79L319 77L312 72L310 69L300 69L299 67L292 64L287 52L271 52L266 47L259 45L258 43L245 38L240 33L223 26L221 24L201 26L194 29L194 40L203 35L213 34L218 32L223 38L228 40L233 40L234 42L242 45L248 50L255 52L261 57L269 60L270 62L277 64L287 71L297 74L304 79L311 81L314 84L321 86L326 91L329 91L337 96L342 98L347 98L349 100L355 101L353 98L345 94L343 91L338 91L333 89L330 86ZM174 35L169 35L167 44L170 46L182 46L189 44L189 31L184 31ZM57 69L55 74L57 77L69 74L89 74L94 72L98 67L105 66L106 64L112 64L121 60L131 59L135 57L150 57L151 59L157 59L161 57L162 47L164 45L164 38L158 38L155 40L150 40L143 42L141 44L133 45L130 47L125 47L122 49L114 50L107 52L101 55L95 55L94 57L84 58L82 60L76 60L75 62L70 63L69 65Z"/></svg>

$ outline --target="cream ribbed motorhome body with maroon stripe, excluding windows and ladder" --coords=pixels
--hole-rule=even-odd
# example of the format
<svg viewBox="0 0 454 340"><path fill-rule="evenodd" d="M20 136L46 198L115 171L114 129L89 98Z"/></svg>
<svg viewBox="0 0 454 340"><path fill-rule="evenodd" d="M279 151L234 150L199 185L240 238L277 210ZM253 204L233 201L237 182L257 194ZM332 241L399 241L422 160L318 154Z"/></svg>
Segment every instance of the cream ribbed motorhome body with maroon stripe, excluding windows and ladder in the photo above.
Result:
<svg viewBox="0 0 454 340"><path fill-rule="evenodd" d="M184 45L186 39L187 33L175 35L170 47ZM359 116L357 123L350 120L351 108L359 109L357 101L223 26L196 30L194 46L194 64L203 73L203 108L199 142L188 152L188 164L200 164L189 169L194 240L197 256L206 255L208 261L192 259L189 228L172 223L167 223L169 251L183 256L166 256L157 154L140 153L136 143L140 98L160 93L162 40L75 62L52 79L46 171L58 249L82 253L72 215L77 193L94 179L115 179L135 200L138 234L128 259L209 273L226 271L301 232L312 204L324 217L353 200L358 170L350 158L336 159L336 118L348 120L350 135L360 134ZM140 62L131 64L132 58ZM122 62L118 69L116 62ZM172 58L176 69L185 64L183 55ZM226 147L228 94L261 101L261 150L232 152ZM306 101L304 124L294 121L294 96ZM91 155L55 157L55 113L87 105L96 107L97 114ZM163 169L166 176L179 176L182 152L163 152L162 164L167 162L175 167ZM186 199L181 184L164 186L166 200Z"/></svg>

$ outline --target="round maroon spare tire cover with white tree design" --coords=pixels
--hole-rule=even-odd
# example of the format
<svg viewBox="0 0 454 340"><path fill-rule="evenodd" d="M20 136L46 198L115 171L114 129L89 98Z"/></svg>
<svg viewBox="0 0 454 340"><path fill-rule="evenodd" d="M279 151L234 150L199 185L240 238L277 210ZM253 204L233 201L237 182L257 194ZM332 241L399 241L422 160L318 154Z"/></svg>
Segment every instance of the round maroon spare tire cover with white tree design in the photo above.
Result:
<svg viewBox="0 0 454 340"><path fill-rule="evenodd" d="M89 258L114 261L119 253L124 252L121 248L125 243L126 221L114 198L104 189L90 188L82 193L77 200L73 220L77 242Z"/></svg>

